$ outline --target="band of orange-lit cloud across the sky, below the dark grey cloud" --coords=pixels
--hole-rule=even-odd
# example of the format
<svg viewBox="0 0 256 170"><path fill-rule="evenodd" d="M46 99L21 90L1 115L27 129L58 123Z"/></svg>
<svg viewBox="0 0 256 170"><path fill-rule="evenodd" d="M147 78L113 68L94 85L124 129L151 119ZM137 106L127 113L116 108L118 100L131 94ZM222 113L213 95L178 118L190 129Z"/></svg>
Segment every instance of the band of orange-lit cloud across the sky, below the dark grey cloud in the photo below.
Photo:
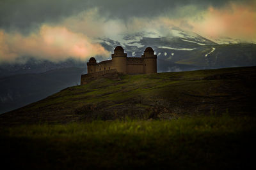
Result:
<svg viewBox="0 0 256 170"><path fill-rule="evenodd" d="M188 6L184 9L193 11L193 8ZM58 23L62 26L42 25L38 32L28 36L0 29L0 62L14 61L22 55L53 61L65 60L68 57L86 60L95 55L109 57L109 52L99 43L93 42L93 39L106 36L118 40L120 35L140 31L168 36L173 26L196 32L209 39L230 37L256 42L255 9L256 3L250 6L230 3L225 8L209 7L195 13L195 16L133 17L127 23L107 19L100 16L97 9L92 9L63 18Z"/></svg>

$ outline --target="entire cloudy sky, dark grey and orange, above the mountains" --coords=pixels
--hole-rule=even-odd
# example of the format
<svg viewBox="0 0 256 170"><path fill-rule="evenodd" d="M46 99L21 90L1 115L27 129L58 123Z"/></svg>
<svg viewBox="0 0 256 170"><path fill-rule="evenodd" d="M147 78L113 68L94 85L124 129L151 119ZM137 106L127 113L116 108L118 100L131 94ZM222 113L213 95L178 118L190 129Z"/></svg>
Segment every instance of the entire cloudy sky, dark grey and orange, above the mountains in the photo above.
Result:
<svg viewBox="0 0 256 170"><path fill-rule="evenodd" d="M109 56L97 39L171 27L256 42L256 0L1 0L0 62Z"/></svg>

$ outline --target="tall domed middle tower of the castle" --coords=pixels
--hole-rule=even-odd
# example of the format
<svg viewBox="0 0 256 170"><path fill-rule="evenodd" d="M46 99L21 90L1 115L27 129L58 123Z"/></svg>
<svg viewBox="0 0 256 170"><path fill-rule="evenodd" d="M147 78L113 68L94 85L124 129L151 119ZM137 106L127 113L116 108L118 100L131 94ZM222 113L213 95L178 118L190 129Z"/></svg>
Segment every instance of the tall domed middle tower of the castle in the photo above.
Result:
<svg viewBox="0 0 256 170"><path fill-rule="evenodd" d="M112 66L119 73L126 73L127 53L124 53L122 46L116 46L112 54Z"/></svg>

